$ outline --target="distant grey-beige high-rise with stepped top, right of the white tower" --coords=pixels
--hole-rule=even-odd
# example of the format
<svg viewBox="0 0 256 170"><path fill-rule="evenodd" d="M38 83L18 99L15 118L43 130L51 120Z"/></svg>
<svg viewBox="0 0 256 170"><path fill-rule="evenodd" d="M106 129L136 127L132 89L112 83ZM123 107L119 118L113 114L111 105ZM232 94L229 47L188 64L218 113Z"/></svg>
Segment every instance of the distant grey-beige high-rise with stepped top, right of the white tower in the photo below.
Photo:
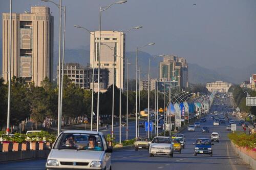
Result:
<svg viewBox="0 0 256 170"><path fill-rule="evenodd" d="M160 81L173 81L181 88L188 87L188 66L186 59L166 55L160 62Z"/></svg>

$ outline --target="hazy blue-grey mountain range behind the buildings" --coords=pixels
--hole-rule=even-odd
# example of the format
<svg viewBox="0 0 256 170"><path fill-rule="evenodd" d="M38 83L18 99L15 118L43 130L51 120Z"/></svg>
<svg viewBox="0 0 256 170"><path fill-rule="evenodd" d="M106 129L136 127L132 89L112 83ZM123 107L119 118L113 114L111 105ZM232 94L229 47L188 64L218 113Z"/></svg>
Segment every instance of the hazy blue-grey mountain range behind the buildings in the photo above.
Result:
<svg viewBox="0 0 256 170"><path fill-rule="evenodd" d="M55 46L57 47L57 46ZM2 54L2 47L0 48ZM151 54L146 52L138 52L138 66L141 67L141 79L145 79L148 72L148 58L152 57ZM128 58L129 65L129 78L135 78L136 70L136 52L126 52L125 58ZM157 77L158 63L162 58L157 57L151 61L151 77ZM65 63L77 62L83 66L90 63L89 48L83 49L66 49L65 50ZM54 51L54 76L57 75L58 65L58 50ZM138 67L139 70L139 67ZM2 73L2 58L0 59L0 73ZM227 81L231 83L241 83L244 80L249 80L251 74L256 73L256 63L247 66L246 68L235 68L231 66L221 67L217 69L209 69L199 66L195 63L188 63L188 82L189 83L206 83L210 81ZM125 73L126 74L126 73Z"/></svg>

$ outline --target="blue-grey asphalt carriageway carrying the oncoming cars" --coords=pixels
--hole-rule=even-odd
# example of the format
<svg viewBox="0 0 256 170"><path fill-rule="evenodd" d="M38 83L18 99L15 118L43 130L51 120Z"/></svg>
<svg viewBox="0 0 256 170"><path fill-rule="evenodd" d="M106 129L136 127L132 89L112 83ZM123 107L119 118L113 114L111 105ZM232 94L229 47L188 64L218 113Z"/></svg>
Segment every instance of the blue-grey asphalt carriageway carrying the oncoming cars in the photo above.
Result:
<svg viewBox="0 0 256 170"><path fill-rule="evenodd" d="M216 102L220 101L217 99ZM213 111L225 112L230 101L227 99L223 102L224 105L220 104L212 107ZM220 134L220 142L214 142L215 145L212 146L212 157L208 155L194 156L195 146L193 143L196 139L210 137L210 133L202 133L201 128L197 128L196 132L187 132L186 130L183 132L186 137L185 149L182 150L181 154L175 153L173 158L165 156L148 157L148 151L146 150L116 151L112 154L113 169L251 169L234 153L227 137L227 134L230 133L226 131L227 123L213 126L211 116L210 114L207 115L207 122L201 123L201 126L207 125L210 128L210 133L218 132ZM237 119L236 122L238 122ZM238 130L242 130L241 126L238 126ZM0 164L0 169L44 169L45 163L46 159L8 162Z"/></svg>

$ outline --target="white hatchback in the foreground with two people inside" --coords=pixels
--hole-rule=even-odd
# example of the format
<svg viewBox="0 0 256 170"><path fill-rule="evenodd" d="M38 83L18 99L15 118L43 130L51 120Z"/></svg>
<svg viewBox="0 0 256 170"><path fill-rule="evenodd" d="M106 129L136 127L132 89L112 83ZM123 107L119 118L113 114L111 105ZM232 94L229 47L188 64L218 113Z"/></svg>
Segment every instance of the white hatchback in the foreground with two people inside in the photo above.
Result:
<svg viewBox="0 0 256 170"><path fill-rule="evenodd" d="M46 169L111 169L112 151L101 132L64 131L52 147Z"/></svg>

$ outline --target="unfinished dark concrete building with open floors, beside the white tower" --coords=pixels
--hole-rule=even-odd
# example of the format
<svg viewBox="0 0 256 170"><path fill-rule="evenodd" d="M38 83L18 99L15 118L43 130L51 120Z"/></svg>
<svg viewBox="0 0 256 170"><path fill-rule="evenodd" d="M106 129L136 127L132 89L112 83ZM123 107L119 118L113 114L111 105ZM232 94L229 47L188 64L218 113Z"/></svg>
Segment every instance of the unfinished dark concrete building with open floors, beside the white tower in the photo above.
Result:
<svg viewBox="0 0 256 170"><path fill-rule="evenodd" d="M58 75L59 67L57 67ZM64 75L67 75L73 83L82 89L93 89L92 78L93 69L91 67L84 67L79 65L79 63L67 63L63 69ZM109 80L109 70L100 69L100 92L105 92ZM57 83L59 82L57 76ZM94 70L94 91L97 92L98 89L98 70Z"/></svg>

